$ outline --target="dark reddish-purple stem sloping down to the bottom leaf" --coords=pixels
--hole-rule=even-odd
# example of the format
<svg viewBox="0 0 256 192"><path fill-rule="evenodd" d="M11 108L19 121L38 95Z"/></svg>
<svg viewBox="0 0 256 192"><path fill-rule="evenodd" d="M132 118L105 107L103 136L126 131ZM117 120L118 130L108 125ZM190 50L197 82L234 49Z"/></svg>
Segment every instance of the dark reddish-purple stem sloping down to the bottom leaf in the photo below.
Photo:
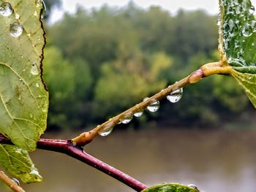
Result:
<svg viewBox="0 0 256 192"><path fill-rule="evenodd" d="M10 139L2 136L0 134L0 144L12 145ZM130 177L128 174L119 171L118 169L105 164L97 158L85 153L82 148L75 147L72 145L71 140L56 140L56 139L39 139L37 142L37 148L42 150L56 151L59 153L65 153L72 158L76 158L83 163L88 164L89 166L98 169L105 174L108 174L110 177L119 180L121 183L133 188L135 191L143 191L146 188L146 185L140 183L138 180L135 180L133 177Z"/></svg>

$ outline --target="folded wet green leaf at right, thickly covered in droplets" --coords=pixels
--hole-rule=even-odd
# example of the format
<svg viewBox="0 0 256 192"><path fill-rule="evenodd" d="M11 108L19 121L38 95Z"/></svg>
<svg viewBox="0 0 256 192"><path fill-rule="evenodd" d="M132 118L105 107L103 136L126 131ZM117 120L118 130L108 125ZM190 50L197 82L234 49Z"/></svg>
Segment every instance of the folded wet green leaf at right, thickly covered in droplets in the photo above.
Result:
<svg viewBox="0 0 256 192"><path fill-rule="evenodd" d="M219 51L256 107L256 20L249 0L219 0Z"/></svg>

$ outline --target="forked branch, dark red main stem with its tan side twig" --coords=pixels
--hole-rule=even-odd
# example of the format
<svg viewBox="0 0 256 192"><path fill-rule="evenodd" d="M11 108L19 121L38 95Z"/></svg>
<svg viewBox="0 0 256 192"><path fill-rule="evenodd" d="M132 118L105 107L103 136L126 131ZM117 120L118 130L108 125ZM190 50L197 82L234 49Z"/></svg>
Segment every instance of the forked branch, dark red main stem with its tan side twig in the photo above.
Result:
<svg viewBox="0 0 256 192"><path fill-rule="evenodd" d="M104 130L106 126L115 126L116 124L120 123L121 120L124 119L128 114L133 115L139 110L145 110L146 107L148 107L148 105L152 103L152 101L159 101L168 96L173 91L178 90L179 88L184 88L189 84L200 81L203 77L208 77L212 74L230 74L231 70L232 67L227 66L224 61L205 64L200 67L200 69L192 72L192 74L185 77L184 79L176 82L173 85L170 85L169 87L165 88L154 96L151 96L151 98L147 99L146 101L142 101L140 104L136 104L134 107L131 107L129 110L122 112L116 117L110 118L108 121L102 123L101 125L97 126L89 132L80 134L78 137L75 137L75 139L71 140L39 139L39 141L37 142L37 148L65 153L72 158L83 161L89 166L93 166L101 172L105 172L105 174L110 175L110 177L113 177L116 180L119 180L121 183L128 185L130 188L135 189L135 191L143 191L143 189L146 188L146 185L140 183L138 180L135 180L129 175L124 174L118 169L108 164L105 164L104 162L99 161L97 158L94 158L93 156L85 153L82 147L91 142L95 137L97 137L99 131ZM7 139L0 134L0 144L12 145L12 142L10 141L10 139Z"/></svg>

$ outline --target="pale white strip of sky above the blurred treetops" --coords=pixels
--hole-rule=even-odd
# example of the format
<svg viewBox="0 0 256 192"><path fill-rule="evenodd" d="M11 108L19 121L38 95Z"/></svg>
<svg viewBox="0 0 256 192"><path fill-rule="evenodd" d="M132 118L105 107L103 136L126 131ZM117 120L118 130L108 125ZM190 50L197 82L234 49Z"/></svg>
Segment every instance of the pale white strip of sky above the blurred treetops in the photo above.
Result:
<svg viewBox="0 0 256 192"><path fill-rule="evenodd" d="M75 12L76 7L83 6L87 9L92 7L101 7L103 4L108 4L110 6L123 7L129 0L61 0L62 9L55 9L52 18L50 18L50 23L54 23L56 20L62 18L64 12ZM135 4L139 7L147 9L151 5L158 5L163 9L170 11L170 13L175 14L178 9L205 9L211 15L216 15L219 10L218 0L133 0ZM256 0L252 0L252 4L256 7Z"/></svg>

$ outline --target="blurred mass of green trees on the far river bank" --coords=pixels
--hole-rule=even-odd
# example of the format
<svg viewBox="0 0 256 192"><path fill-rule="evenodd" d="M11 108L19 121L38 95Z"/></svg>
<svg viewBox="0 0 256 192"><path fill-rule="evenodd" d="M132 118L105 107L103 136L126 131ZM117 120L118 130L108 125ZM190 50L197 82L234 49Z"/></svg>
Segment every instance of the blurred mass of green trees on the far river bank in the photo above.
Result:
<svg viewBox="0 0 256 192"><path fill-rule="evenodd" d="M75 15L66 14L47 27L49 128L95 126L202 64L219 60L217 31L217 16L200 10L170 15L159 7L140 9L132 1L121 9L78 7ZM148 122L216 126L254 115L231 78L209 77L197 84L184 90L178 104L162 102L157 114L146 116ZM138 128L144 121L134 123Z"/></svg>

